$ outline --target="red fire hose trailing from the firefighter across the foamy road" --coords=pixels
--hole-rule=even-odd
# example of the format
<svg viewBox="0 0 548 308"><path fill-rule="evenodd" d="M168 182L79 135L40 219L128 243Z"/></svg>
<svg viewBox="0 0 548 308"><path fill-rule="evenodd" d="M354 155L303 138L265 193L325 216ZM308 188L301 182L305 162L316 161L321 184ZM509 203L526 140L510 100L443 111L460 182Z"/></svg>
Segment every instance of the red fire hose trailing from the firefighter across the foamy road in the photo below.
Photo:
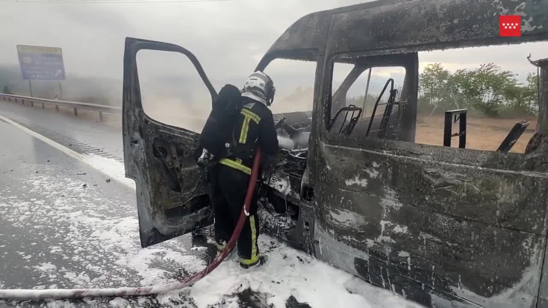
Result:
<svg viewBox="0 0 548 308"><path fill-rule="evenodd" d="M246 199L243 204L242 214L240 214L236 229L230 237L230 241L226 244L225 249L216 256L216 258L205 269L194 275L186 278L181 282L175 282L165 284L161 286L150 287L122 287L122 288L106 288L106 289L45 289L45 290L33 290L33 289L7 289L0 290L0 299L62 299L62 298L83 298L83 297L97 297L97 296L137 296L137 295L150 295L161 294L172 290L188 287L191 284L201 280L216 269L219 264L226 258L229 252L236 244L240 233L242 232L243 224L246 222L246 218L249 215L249 206L253 199L253 193L257 184L257 178L259 176L259 163L261 160L261 149L258 147L255 159L253 161L253 168L251 176L249 178L249 184L247 186Z"/></svg>

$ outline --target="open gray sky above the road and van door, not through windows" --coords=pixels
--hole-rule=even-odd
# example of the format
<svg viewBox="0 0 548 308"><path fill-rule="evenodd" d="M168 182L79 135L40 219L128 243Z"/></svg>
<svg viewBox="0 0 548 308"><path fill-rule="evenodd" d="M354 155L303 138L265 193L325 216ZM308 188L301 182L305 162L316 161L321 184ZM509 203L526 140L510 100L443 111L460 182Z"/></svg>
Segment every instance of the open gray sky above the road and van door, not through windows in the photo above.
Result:
<svg viewBox="0 0 548 308"><path fill-rule="evenodd" d="M1 64L18 64L15 45L63 49L67 76L122 76L124 38L182 45L211 75L248 75L300 16L356 0L214 3L9 3L0 2L4 26ZM234 75L230 73L230 75Z"/></svg>

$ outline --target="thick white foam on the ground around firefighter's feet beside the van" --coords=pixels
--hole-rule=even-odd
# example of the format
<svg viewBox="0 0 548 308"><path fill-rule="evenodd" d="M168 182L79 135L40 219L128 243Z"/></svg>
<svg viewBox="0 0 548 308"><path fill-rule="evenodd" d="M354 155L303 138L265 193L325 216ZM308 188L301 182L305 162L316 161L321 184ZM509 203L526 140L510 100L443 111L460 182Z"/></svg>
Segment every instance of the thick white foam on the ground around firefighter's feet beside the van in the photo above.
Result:
<svg viewBox="0 0 548 308"><path fill-rule="evenodd" d="M259 247L263 252L267 251L269 265L242 273L236 261L221 264L192 287L190 295L195 304L206 308L219 303L225 294L250 288L266 294L266 304L274 307L286 307L286 301L292 295L314 308L420 307L269 236L261 235ZM349 292L350 288L355 294ZM357 289L364 292L356 294ZM383 303L386 305L379 305Z"/></svg>

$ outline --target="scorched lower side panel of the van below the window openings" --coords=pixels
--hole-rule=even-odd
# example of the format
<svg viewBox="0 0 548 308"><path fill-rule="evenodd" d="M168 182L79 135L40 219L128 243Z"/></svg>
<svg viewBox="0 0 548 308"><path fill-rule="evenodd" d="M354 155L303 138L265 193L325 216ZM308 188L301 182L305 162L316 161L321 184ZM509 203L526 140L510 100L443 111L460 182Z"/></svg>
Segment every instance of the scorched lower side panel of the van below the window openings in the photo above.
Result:
<svg viewBox="0 0 548 308"><path fill-rule="evenodd" d="M425 305L534 307L548 176L523 155L366 140L319 158L318 258Z"/></svg>

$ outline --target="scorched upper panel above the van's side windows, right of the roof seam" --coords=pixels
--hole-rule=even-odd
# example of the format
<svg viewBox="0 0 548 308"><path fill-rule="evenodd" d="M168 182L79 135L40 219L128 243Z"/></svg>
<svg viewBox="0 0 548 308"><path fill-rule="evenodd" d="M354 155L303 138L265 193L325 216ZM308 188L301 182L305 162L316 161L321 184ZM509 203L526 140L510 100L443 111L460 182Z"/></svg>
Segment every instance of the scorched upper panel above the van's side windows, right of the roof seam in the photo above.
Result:
<svg viewBox="0 0 548 308"><path fill-rule="evenodd" d="M326 54L545 40L547 12L546 0L412 0L356 9L333 15ZM522 16L520 38L499 36L501 14Z"/></svg>

